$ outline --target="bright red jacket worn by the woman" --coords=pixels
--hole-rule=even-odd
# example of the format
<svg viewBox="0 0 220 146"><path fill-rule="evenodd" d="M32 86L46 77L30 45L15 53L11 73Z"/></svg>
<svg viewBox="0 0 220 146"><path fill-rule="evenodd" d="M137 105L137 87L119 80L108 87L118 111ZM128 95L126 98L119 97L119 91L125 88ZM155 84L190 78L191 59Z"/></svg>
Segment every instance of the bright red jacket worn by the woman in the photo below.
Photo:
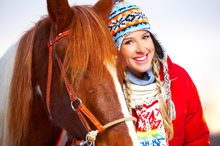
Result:
<svg viewBox="0 0 220 146"><path fill-rule="evenodd" d="M188 73L180 66L167 60L172 100L175 104L176 119L173 120L174 137L169 146L208 146L207 127L199 94ZM161 65L162 66L162 65ZM163 80L163 71L160 70Z"/></svg>

